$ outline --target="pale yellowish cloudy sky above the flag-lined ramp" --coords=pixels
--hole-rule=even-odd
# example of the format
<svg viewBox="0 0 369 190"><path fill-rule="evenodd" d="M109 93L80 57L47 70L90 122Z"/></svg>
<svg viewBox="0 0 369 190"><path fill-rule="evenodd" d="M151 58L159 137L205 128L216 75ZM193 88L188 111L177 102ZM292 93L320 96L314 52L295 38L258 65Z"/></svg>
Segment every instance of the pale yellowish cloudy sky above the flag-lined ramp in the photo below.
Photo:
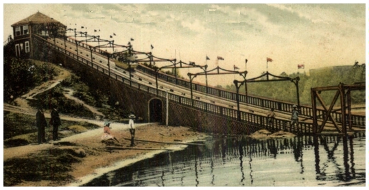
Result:
<svg viewBox="0 0 369 190"><path fill-rule="evenodd" d="M12 34L13 23L38 11L67 27L115 40L115 44L126 45L133 38L134 50L152 51L159 58L207 64L208 71L217 66L233 70L235 65L238 71L248 71L246 78L257 77L264 71L274 75L309 73L309 69L366 61L364 3L12 4L11 1L3 4L4 40ZM116 36L110 38L113 33ZM217 56L224 60L217 60ZM267 58L272 62L267 62ZM170 63L158 66L167 64ZM298 64L304 64L305 69L298 69ZM187 73L202 72L179 71L185 78ZM241 79L237 75L208 77L210 85L233 84L233 80ZM196 80L203 82L204 78L198 76Z"/></svg>

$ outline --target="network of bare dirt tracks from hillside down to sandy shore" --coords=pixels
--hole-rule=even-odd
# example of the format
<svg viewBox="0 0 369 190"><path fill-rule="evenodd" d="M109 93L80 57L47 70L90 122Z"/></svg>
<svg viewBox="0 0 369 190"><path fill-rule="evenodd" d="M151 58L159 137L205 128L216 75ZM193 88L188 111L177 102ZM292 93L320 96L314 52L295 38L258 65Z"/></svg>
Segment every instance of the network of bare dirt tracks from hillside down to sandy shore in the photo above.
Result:
<svg viewBox="0 0 369 190"><path fill-rule="evenodd" d="M29 106L28 100L34 99L38 93L44 93L49 91L51 88L60 84L60 82L69 76L71 73L62 67L51 64L56 67L58 71L58 76L54 80L44 82L40 86L32 89L22 97L14 99L16 106L12 104L3 104L3 110L10 112L17 112L26 115L36 115L36 109ZM99 112L97 108L85 104L82 100L73 97L73 90L70 88L64 88L64 96L72 99L78 104L83 104L86 108L91 110L100 118L104 118L104 114ZM50 113L45 111L45 117L50 118ZM60 114L60 119L67 121L85 121L88 123L93 123L98 126L103 126L103 122L100 119L84 119L78 117L71 117L69 115ZM153 141L167 141L174 142L191 142L191 141L202 141L206 134L200 134L198 132L193 132L190 128L186 127L165 127L158 126L156 123L140 123L136 124L136 136L139 139L147 139ZM121 147L128 147L130 141L125 140L130 137L130 132L128 130L128 124L126 123L111 123L112 135L119 139ZM136 147L142 150L106 150L106 145L102 143L101 136L103 134L102 128L96 130L88 130L87 132L82 132L80 134L74 134L62 138L60 141L49 141L49 143L43 144L30 144L19 147L9 147L3 149L3 161L10 161L12 158L26 158L29 161L36 159L37 156L43 150L53 150L53 149L72 149L72 150L86 150L86 152L93 152L93 154L87 154L86 157L82 158L80 163L72 164L72 171L68 173L75 179L71 181L29 181L22 179L21 184L17 186L25 187L40 187L40 186L79 186L84 182L88 182L92 178L96 178L105 174L106 172L117 169L119 167L124 167L125 165L132 164L136 161L143 160L158 154L160 152L166 151L167 147L173 148L184 148L186 145L167 145L160 143L136 143ZM60 143L72 143L73 145L60 145ZM147 150L145 150L147 149ZM163 149L150 151L150 149ZM108 154L106 154L109 152ZM108 156L107 156L108 155ZM119 163L119 164L117 164ZM4 176L5 177L5 176ZM7 180L8 178L4 178Z"/></svg>

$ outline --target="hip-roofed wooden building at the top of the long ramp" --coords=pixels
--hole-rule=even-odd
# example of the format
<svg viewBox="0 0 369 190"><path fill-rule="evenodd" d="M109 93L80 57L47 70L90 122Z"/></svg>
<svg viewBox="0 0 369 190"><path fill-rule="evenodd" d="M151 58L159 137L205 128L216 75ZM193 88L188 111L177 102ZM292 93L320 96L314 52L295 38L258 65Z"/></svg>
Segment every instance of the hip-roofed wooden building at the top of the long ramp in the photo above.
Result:
<svg viewBox="0 0 369 190"><path fill-rule="evenodd" d="M32 58L34 56L34 47L32 47L32 35L53 37L63 35L67 26L62 23L36 12L27 18L12 24L15 56L23 58Z"/></svg>

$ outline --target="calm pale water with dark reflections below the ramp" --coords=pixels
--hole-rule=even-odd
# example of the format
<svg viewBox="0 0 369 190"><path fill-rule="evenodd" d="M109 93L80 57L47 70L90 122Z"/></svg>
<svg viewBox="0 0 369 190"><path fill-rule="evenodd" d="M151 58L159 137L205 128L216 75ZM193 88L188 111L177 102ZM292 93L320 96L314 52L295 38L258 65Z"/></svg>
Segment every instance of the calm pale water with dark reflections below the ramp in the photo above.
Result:
<svg viewBox="0 0 369 190"><path fill-rule="evenodd" d="M111 171L84 186L365 186L365 133L206 141Z"/></svg>

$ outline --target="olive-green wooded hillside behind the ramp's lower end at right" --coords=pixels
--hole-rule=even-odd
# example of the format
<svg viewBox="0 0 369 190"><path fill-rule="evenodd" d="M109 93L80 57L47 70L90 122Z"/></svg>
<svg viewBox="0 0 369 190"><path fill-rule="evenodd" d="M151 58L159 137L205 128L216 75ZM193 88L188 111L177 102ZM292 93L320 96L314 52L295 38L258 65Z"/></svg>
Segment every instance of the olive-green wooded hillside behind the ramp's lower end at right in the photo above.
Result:
<svg viewBox="0 0 369 190"><path fill-rule="evenodd" d="M355 82L365 82L365 64L356 64L352 67L327 67L312 71L310 76L305 73L292 73L287 75L281 73L283 77L300 77L298 82L300 104L311 104L311 88L318 86L337 86L341 82L344 84L354 84ZM297 102L296 86L293 82L253 82L248 83L248 95L267 97L285 102ZM229 91L236 91L233 84L227 85ZM245 88L241 86L239 93L244 93ZM335 91L325 91L321 94L326 103L331 102ZM351 101L355 103L365 102L365 91L353 91Z"/></svg>

